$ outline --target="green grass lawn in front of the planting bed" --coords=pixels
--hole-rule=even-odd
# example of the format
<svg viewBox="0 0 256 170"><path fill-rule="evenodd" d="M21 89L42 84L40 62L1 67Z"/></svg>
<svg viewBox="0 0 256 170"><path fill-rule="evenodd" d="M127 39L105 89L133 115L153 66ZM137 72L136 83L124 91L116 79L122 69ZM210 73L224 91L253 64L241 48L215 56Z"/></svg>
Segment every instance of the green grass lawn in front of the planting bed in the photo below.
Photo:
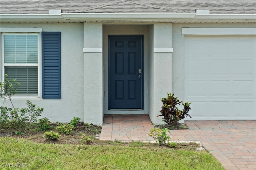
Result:
<svg viewBox="0 0 256 170"><path fill-rule="evenodd" d="M0 138L0 169L224 170L206 151L134 145L60 145ZM11 166L11 167L4 167Z"/></svg>

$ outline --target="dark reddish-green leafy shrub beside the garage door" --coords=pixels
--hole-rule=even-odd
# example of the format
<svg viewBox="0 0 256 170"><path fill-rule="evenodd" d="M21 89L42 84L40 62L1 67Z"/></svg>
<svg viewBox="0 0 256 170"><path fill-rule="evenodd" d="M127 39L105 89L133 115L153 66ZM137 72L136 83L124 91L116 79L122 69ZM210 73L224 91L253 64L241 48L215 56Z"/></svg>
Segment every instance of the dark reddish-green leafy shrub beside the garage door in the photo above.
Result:
<svg viewBox="0 0 256 170"><path fill-rule="evenodd" d="M191 102L180 102L180 100L174 96L174 93L167 93L167 98L162 98L162 103L163 106L161 107L162 109L160 111L161 115L158 116L163 116L163 121L165 121L168 125L177 123L186 116L191 118L191 116L188 114L188 111L190 111ZM178 107L176 107L176 105L180 105L180 103L184 106L184 109L182 110L179 110Z"/></svg>

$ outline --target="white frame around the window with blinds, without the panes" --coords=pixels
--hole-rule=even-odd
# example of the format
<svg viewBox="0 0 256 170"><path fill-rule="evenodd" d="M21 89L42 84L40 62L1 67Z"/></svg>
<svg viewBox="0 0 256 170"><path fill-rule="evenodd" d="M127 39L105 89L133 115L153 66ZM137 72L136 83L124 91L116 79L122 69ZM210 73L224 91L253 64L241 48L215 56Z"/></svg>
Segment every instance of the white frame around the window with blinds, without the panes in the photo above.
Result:
<svg viewBox="0 0 256 170"><path fill-rule="evenodd" d="M24 28L22 28L23 30ZM2 31L3 29L1 29ZM4 29L5 30L5 29ZM35 29L36 31L39 31L40 28ZM42 30L42 29L41 29ZM19 28L12 28L12 31L8 32L1 32L1 42L0 42L0 81L4 81L4 67L5 66L37 66L38 71L38 95L35 96L24 96L24 95L15 95L12 96L12 99L26 99L26 100L35 100L40 99L42 97L42 33L41 32L34 32L34 29L30 28L29 31L32 32L23 32L19 31ZM29 63L29 64L23 64L23 63L6 63L4 64L4 35L37 35L38 36L38 63Z"/></svg>

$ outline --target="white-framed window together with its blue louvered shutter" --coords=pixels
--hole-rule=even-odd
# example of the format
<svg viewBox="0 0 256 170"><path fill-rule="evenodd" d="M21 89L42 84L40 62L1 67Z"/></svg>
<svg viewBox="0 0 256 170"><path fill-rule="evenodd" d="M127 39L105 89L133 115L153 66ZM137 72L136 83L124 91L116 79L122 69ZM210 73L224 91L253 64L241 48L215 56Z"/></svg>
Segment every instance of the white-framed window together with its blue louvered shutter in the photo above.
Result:
<svg viewBox="0 0 256 170"><path fill-rule="evenodd" d="M0 30L0 81L4 74L9 80L16 79L20 83L16 94L19 98L61 98L61 33L42 32L36 27Z"/></svg>

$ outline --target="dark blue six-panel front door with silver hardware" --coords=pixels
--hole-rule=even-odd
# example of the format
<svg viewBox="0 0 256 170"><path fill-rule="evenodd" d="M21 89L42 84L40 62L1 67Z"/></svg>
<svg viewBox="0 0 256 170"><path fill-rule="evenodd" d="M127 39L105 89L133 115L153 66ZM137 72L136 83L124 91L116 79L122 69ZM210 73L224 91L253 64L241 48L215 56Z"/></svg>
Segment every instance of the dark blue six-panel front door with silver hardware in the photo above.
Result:
<svg viewBox="0 0 256 170"><path fill-rule="evenodd" d="M143 109L143 36L109 36L109 109Z"/></svg>

